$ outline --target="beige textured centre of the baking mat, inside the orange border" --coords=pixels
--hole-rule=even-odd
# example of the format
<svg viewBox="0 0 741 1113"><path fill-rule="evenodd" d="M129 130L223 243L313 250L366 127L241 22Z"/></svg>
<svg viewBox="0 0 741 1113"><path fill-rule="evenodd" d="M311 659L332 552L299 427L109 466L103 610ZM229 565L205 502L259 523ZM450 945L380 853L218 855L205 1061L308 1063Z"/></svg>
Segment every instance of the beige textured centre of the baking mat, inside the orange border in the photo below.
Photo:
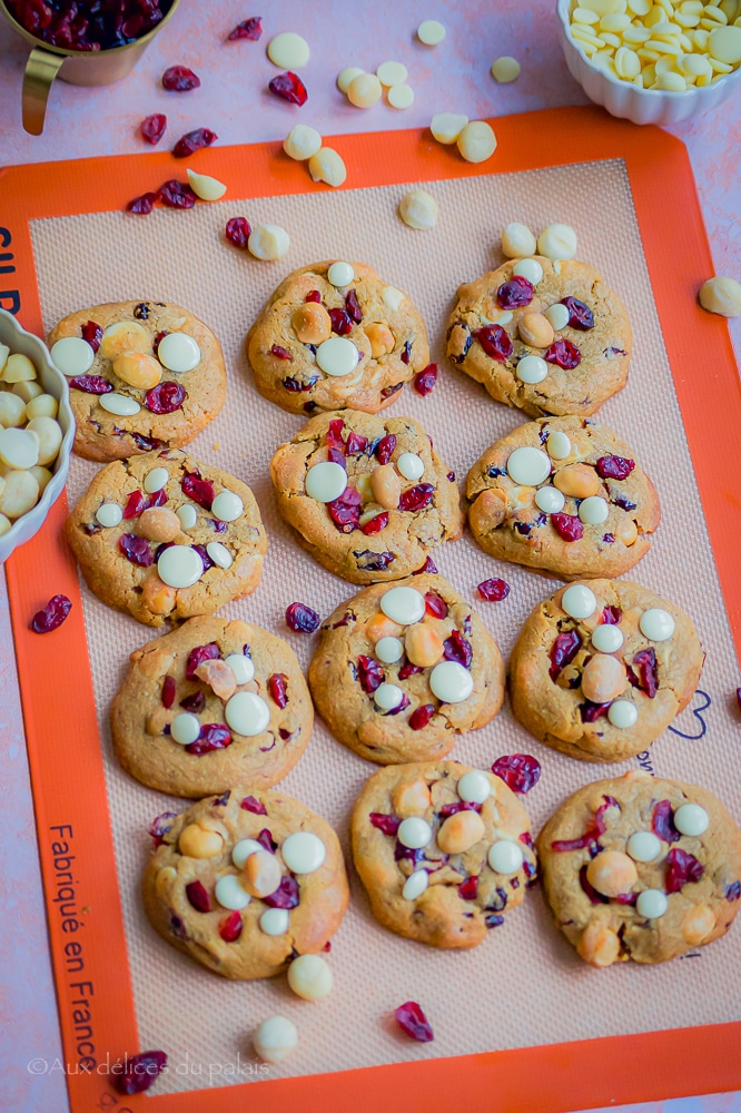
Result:
<svg viewBox="0 0 741 1113"><path fill-rule="evenodd" d="M522 416L492 402L446 364L444 323L456 286L502 262L498 232L508 220L523 220L536 230L553 220L573 224L580 258L593 263L620 292L635 334L628 387L601 413L633 446L662 499L658 540L633 574L693 615L708 651L701 683L712 705L703 712L704 737L691 741L666 732L653 747L651 761L659 775L707 785L740 817L741 767L732 759L739 726L728 696L738 683L737 663L622 161L435 183L429 188L439 204L439 223L427 233L412 232L395 214L407 188L228 200L187 213L162 209L146 218L108 213L36 220L32 237L45 325L50 328L83 306L149 298L178 302L214 328L226 355L228 400L221 415L194 442L192 452L250 484L270 542L258 592L227 613L287 634L306 667L312 640L287 633L287 603L298 598L326 615L354 589L315 564L275 510L268 461L300 420L266 402L253 385L243 341L260 306L292 268L327 258L367 260L406 289L427 322L441 380L427 398L407 388L392 412L422 421L463 480L483 450ZM226 220L237 214L253 225L285 226L292 238L289 255L277 264L258 263L225 244ZM707 368L698 363L696 373ZM95 466L72 461L71 500L81 494ZM531 608L557 587L516 565L498 564L470 538L438 550L435 561L471 599L486 577L510 581L512 593L505 602L478 604L505 656ZM274 1013L295 1022L300 1043L287 1064L270 1067L270 1076L718 1023L741 1015L738 989L729 977L741 966L738 925L694 961L655 967L625 963L600 972L585 966L555 930L540 888L482 946L455 953L383 930L350 874L350 907L329 956L335 989L319 1004L298 1001L285 978L229 983L201 969L155 934L139 904L139 879L150 847L147 826L158 812L182 805L121 772L107 725L127 653L154 632L109 610L85 587L82 591L139 1043L165 1048L170 1064L179 1064L179 1072L158 1083L158 1092L209 1085L209 1065L213 1084L234 1081L237 1056L243 1068L249 1063L250 1031ZM699 697L695 706L703 702ZM686 735L701 731L690 709L675 726ZM536 830L573 789L635 765L600 767L554 754L513 721L508 707L491 726L464 736L453 757L488 767L500 755L517 751L534 754L543 766L541 782L525 797ZM373 770L317 723L306 756L281 788L334 824L347 851L350 805ZM435 1030L433 1044L404 1040L389 1022L391 1011L408 998L426 1009Z"/></svg>

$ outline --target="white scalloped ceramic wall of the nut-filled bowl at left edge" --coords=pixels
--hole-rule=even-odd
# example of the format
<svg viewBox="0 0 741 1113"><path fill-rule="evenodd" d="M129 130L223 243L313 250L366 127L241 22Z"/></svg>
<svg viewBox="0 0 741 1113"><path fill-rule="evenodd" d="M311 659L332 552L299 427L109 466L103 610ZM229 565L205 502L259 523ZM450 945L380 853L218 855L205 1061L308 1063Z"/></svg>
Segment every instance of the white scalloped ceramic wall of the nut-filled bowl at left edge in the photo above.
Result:
<svg viewBox="0 0 741 1113"><path fill-rule="evenodd" d="M38 381L46 393L53 394L59 401L57 421L62 430L62 443L55 463L55 473L49 480L46 491L33 510L29 510L28 514L18 518L13 522L12 529L8 530L0 538L1 564L8 560L14 549L24 544L26 541L30 541L39 532L49 510L62 493L65 483L67 482L67 472L69 471L72 441L75 440L75 415L69 404L67 380L60 371L57 371L51 362L47 345L38 336L27 333L24 328L21 328L12 314L6 313L4 309L0 309L0 344L7 344L11 353L20 352L21 355L27 355L33 363Z"/></svg>

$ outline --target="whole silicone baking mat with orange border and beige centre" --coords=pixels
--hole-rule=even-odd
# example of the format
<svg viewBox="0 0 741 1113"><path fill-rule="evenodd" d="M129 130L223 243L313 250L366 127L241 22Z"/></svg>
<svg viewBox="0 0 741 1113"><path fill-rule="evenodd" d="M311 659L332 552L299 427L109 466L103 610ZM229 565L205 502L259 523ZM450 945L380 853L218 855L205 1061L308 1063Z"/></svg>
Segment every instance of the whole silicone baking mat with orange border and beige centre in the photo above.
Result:
<svg viewBox="0 0 741 1113"><path fill-rule="evenodd" d="M314 185L278 145L209 150L199 168L228 184L229 199L147 218L121 210L171 176L167 155L8 170L2 232L14 255L20 319L41 332L72 309L132 297L179 302L215 329L228 401L192 453L253 486L270 542L258 592L225 610L288 637L306 666L313 642L288 633L286 604L300 598L326 614L354 589L298 548L275 509L268 462L300 420L251 382L243 342L261 304L288 270L320 258L368 260L406 289L427 322L441 378L427 398L406 390L392 412L422 421L463 480L522 415L446 364L444 322L456 286L498 265L498 230L508 220L539 230L556 219L574 225L579 256L620 292L635 337L629 385L600 418L633 446L662 499L654 548L629 578L693 615L708 651L702 690L650 754L607 769L545 749L508 707L464 736L453 757L487 767L501 754L534 754L543 776L525 804L535 829L577 786L636 762L707 785L741 817L732 705L741 395L725 324L694 301L711 262L684 148L594 109L494 122L498 150L476 167L417 131L339 138L349 173L337 191ZM398 199L418 183L439 205L439 223L426 234L396 216ZM237 214L284 225L289 255L260 264L225 244L224 225ZM95 471L72 461L70 501ZM322 1003L293 997L283 978L228 983L168 947L144 917L138 886L149 821L182 802L124 775L107 726L127 656L152 631L80 587L60 539L65 513L60 502L8 572L73 1113L146 1102L165 1113L209 1113L235 1101L266 1111L297 1103L374 1113L555 1111L741 1086L738 928L664 966L599 972L555 932L536 888L481 947L437 952L376 925L350 868L350 908L329 956L335 989ZM435 561L471 599L486 577L512 584L505 602L477 604L505 656L530 609L557 585L493 561L470 536ZM58 591L73 600L72 615L38 638L28 619ZM373 768L317 722L281 788L324 815L347 851L352 800ZM391 1013L408 998L423 1004L434 1043L395 1031ZM299 1047L267 1067L254 1058L250 1033L274 1013L295 1022ZM150 1096L115 1104L110 1063L147 1047L167 1051L168 1073Z"/></svg>

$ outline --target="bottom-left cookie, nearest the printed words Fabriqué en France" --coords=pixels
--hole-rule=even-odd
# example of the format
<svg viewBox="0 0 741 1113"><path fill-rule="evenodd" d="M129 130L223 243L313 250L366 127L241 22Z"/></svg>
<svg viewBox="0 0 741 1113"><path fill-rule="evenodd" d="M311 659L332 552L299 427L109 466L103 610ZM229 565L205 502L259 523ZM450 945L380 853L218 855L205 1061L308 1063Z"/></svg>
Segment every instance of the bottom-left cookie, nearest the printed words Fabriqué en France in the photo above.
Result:
<svg viewBox="0 0 741 1113"><path fill-rule="evenodd" d="M215 974L273 977L324 951L342 923L349 894L339 840L283 792L235 787L158 816L150 834L147 916Z"/></svg>

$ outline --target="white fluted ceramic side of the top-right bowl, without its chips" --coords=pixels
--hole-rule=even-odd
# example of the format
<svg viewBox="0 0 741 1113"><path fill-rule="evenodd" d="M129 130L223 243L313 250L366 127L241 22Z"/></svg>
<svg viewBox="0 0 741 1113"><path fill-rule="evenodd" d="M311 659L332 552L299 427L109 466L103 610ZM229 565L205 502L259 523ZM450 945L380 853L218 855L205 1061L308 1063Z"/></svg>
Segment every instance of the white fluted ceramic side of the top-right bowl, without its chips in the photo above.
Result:
<svg viewBox="0 0 741 1113"><path fill-rule="evenodd" d="M741 92L741 68L704 89L686 89L684 92L639 89L631 81L621 81L593 66L581 52L571 37L570 10L571 0L557 0L556 27L569 71L590 100L595 105L603 105L612 116L632 120L633 124L659 124L666 127L691 116L702 116L731 93Z"/></svg>

